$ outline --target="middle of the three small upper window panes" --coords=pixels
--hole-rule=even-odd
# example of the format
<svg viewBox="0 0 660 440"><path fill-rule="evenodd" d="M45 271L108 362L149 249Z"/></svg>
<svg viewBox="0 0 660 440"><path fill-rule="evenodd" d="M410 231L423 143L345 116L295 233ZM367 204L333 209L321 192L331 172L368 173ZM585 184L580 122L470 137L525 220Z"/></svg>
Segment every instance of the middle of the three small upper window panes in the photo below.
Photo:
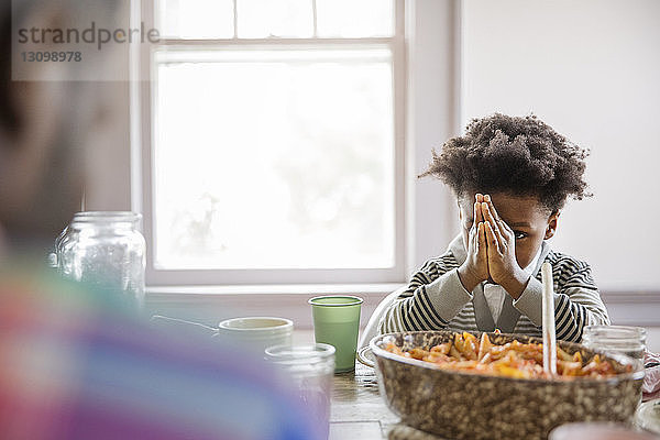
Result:
<svg viewBox="0 0 660 440"><path fill-rule="evenodd" d="M311 0L238 0L241 38L314 36Z"/></svg>

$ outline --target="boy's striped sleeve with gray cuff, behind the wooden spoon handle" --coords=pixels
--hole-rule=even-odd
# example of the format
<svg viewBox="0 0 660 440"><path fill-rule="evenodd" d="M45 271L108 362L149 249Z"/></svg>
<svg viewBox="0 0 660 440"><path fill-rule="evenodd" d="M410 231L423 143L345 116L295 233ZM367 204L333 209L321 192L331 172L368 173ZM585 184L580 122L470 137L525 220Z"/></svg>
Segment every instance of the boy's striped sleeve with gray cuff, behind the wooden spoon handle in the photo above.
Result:
<svg viewBox="0 0 660 440"><path fill-rule="evenodd" d="M580 342L584 326L609 324L607 309L586 263L572 262L553 274L557 339ZM514 305L538 327L542 326L542 286L530 278Z"/></svg>

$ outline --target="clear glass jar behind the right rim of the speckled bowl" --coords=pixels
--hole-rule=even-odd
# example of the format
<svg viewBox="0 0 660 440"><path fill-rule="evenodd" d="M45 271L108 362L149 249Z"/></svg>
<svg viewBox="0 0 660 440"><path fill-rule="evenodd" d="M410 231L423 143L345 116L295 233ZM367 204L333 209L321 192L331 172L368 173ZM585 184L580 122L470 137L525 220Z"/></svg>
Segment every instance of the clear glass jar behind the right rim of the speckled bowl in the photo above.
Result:
<svg viewBox="0 0 660 440"><path fill-rule="evenodd" d="M641 327L587 326L582 333L582 343L587 349L641 360L646 349L646 330Z"/></svg>

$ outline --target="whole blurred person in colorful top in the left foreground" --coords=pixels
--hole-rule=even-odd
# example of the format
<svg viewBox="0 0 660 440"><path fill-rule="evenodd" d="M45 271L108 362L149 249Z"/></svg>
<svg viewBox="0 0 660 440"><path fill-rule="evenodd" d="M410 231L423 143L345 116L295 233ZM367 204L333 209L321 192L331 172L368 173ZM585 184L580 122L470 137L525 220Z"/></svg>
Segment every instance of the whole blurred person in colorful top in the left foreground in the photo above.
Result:
<svg viewBox="0 0 660 440"><path fill-rule="evenodd" d="M110 13L112 3L25 0L14 12L19 24L55 26L79 16L76 4ZM152 328L117 296L42 267L79 210L99 116L123 109L105 107L95 82L13 81L10 7L0 0L0 437L322 438L323 421L262 359Z"/></svg>

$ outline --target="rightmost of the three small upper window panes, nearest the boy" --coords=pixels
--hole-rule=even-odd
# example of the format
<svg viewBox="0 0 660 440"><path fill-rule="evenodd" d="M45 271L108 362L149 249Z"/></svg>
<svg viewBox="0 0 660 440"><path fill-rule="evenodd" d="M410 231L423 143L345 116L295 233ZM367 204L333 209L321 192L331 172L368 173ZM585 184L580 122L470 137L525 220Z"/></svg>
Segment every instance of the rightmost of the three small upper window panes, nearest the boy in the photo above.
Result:
<svg viewBox="0 0 660 440"><path fill-rule="evenodd" d="M317 0L319 36L392 36L394 0Z"/></svg>

